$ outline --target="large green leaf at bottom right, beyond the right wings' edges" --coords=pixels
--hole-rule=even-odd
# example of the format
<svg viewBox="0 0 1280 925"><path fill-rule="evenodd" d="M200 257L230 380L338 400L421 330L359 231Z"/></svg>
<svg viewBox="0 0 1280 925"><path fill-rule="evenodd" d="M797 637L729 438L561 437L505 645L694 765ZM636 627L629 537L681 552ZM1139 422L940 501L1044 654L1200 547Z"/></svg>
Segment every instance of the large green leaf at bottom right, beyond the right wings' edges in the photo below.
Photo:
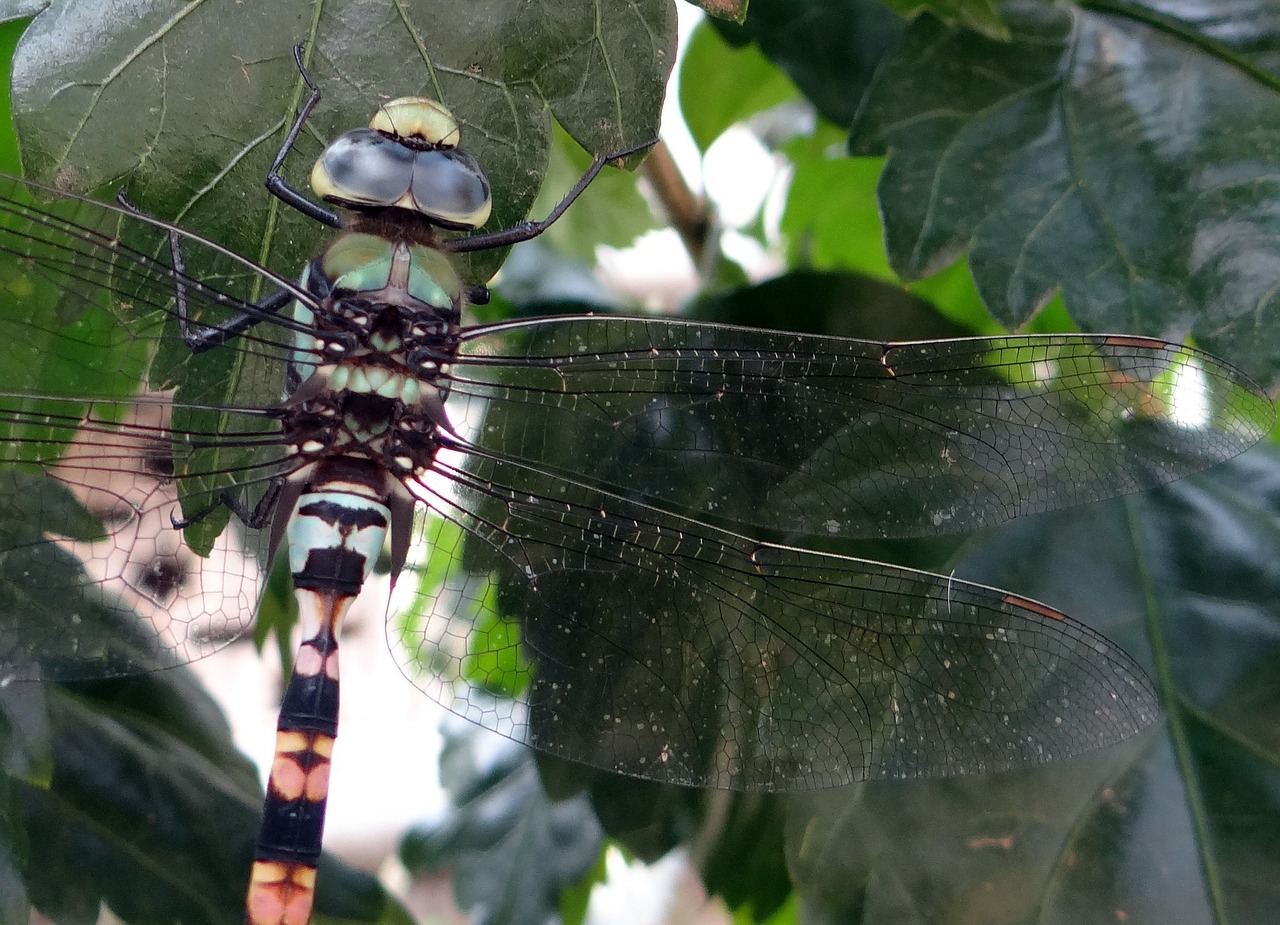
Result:
<svg viewBox="0 0 1280 925"><path fill-rule="evenodd" d="M1280 880L1280 452L1006 525L957 574L1088 619L1166 719L1124 746L955 782L797 798L813 921L1261 922Z"/></svg>

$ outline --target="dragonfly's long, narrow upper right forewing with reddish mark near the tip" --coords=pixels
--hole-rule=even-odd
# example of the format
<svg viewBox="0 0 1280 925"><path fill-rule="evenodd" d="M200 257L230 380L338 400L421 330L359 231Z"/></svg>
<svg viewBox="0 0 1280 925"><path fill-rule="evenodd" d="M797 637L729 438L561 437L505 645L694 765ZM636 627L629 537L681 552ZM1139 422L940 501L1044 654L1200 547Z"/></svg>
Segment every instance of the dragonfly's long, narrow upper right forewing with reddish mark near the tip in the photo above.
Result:
<svg viewBox="0 0 1280 925"><path fill-rule="evenodd" d="M919 536L1139 491L1274 409L1199 351L1107 335L874 343L680 321L477 328L485 450L733 530Z"/></svg>

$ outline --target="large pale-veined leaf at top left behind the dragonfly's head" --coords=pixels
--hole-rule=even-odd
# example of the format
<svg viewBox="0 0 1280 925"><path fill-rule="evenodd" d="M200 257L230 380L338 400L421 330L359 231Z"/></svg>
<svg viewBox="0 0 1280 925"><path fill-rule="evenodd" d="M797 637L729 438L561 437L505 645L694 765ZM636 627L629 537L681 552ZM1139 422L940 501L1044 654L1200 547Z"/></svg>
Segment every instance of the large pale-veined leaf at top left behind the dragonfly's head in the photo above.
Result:
<svg viewBox="0 0 1280 925"><path fill-rule="evenodd" d="M675 58L671 0L288 0L198 4L182 15L132 5L102 19L95 0L70 0L23 36L13 101L27 170L78 192L125 179L136 205L289 276L324 232L262 191L305 99L296 42L308 43L324 96L287 178L301 186L320 143L366 124L388 96L429 96L454 111L463 147L489 175L488 228L529 211L549 116L593 152L654 138ZM0 4L0 18L13 14ZM488 279L500 260L474 257L471 276Z"/></svg>

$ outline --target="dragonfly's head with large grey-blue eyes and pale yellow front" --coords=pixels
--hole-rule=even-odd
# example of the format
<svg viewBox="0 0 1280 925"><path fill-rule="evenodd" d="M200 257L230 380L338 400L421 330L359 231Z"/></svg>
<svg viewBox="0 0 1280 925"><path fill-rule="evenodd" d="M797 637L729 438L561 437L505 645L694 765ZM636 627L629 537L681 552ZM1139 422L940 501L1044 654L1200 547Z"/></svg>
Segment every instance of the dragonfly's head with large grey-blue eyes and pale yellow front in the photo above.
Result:
<svg viewBox="0 0 1280 925"><path fill-rule="evenodd" d="M311 188L355 211L403 209L440 228L476 229L489 220L493 197L458 138L457 119L439 102L392 100L369 128L347 132L320 152Z"/></svg>

